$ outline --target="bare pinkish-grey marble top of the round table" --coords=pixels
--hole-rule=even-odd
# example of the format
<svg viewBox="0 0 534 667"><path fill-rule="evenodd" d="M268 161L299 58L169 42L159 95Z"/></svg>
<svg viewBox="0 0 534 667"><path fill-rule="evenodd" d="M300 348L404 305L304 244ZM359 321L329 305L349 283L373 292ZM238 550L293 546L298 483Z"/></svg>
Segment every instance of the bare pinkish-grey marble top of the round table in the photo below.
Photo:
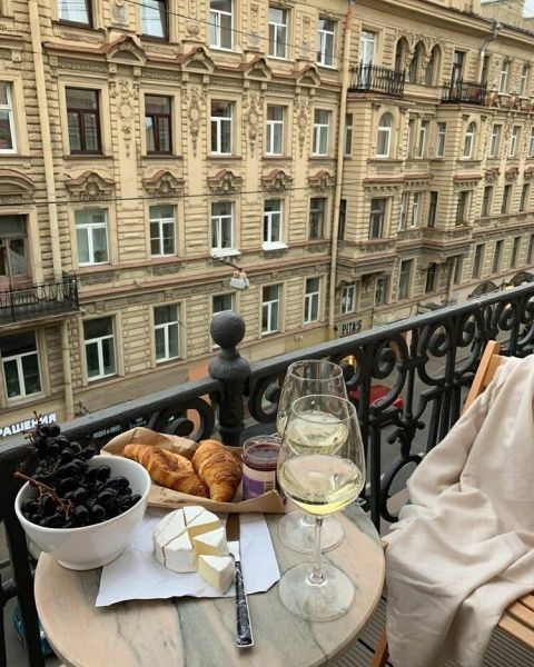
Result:
<svg viewBox="0 0 534 667"><path fill-rule="evenodd" d="M280 571L312 560L286 548L267 515ZM95 607L100 569L68 570L41 555L36 599L44 633L68 666L102 667L312 667L325 665L352 644L372 616L384 584L384 556L373 524L357 507L339 516L345 538L325 561L354 581L350 610L328 623L293 616L278 599L278 586L248 596L255 646L236 648L233 598L134 600Z"/></svg>

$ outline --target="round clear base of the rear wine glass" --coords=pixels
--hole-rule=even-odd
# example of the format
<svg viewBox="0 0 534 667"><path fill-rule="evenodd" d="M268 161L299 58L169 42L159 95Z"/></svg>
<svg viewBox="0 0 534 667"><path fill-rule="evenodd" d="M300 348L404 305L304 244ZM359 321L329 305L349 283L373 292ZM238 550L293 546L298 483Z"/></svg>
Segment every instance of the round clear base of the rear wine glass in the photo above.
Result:
<svg viewBox="0 0 534 667"><path fill-rule="evenodd" d="M320 550L329 551L337 547L345 534L343 526L334 517L324 517L320 530ZM308 520L304 511L290 511L278 521L280 541L300 554L315 551L315 521Z"/></svg>

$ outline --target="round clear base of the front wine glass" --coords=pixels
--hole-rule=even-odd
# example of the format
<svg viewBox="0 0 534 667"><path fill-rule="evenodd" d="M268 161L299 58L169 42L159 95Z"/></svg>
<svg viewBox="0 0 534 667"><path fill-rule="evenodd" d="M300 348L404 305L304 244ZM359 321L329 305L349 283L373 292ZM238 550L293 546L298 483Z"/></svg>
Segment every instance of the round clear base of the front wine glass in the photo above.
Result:
<svg viewBox="0 0 534 667"><path fill-rule="evenodd" d="M312 621L334 620L344 616L354 601L354 584L337 567L322 566L324 581L312 584L310 563L291 567L278 584L280 601L295 616Z"/></svg>

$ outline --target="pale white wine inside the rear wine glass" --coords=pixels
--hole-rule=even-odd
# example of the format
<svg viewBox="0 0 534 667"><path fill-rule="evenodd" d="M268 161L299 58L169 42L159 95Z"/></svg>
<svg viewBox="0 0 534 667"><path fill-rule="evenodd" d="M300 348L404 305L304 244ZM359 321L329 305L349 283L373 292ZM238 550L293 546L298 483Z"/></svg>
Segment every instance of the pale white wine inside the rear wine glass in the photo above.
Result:
<svg viewBox="0 0 534 667"><path fill-rule="evenodd" d="M293 417L284 439L295 454L335 454L348 438L347 426L335 415L305 410Z"/></svg>

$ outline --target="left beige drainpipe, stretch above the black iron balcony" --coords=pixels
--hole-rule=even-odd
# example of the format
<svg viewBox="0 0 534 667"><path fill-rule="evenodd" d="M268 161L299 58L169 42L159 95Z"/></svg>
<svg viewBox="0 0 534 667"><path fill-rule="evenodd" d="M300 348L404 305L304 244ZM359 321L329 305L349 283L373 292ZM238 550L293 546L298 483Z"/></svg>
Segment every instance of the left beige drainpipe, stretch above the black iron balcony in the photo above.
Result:
<svg viewBox="0 0 534 667"><path fill-rule="evenodd" d="M50 119L48 116L47 83L42 62L41 30L39 23L38 0L28 0L31 30L31 48L33 51L33 68L36 70L37 102L39 104L39 122L42 141L42 159L47 186L48 220L50 226L50 242L52 246L53 279L61 280L61 252L59 249L58 207L56 206L56 181L53 178L52 139Z"/></svg>

